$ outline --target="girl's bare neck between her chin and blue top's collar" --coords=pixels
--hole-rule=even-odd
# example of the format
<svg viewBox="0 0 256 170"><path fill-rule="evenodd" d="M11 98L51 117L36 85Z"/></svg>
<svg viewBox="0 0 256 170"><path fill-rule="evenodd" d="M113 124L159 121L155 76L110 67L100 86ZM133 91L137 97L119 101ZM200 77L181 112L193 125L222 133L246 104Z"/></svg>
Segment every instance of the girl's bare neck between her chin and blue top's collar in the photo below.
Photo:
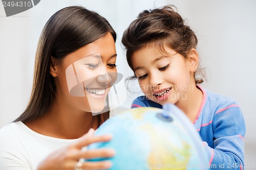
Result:
<svg viewBox="0 0 256 170"><path fill-rule="evenodd" d="M194 123L203 100L203 92L195 84L193 89L189 89L186 92L186 95L186 100L180 100L175 105L187 115L192 123Z"/></svg>

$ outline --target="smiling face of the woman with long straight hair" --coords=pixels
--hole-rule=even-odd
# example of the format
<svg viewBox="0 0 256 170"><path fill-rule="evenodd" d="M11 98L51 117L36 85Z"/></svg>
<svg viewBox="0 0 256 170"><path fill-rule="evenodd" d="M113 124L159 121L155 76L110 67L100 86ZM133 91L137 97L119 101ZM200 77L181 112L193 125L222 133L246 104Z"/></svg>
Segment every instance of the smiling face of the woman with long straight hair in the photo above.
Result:
<svg viewBox="0 0 256 170"><path fill-rule="evenodd" d="M110 33L67 55L55 67L57 99L81 111L102 111L116 80L116 56Z"/></svg>

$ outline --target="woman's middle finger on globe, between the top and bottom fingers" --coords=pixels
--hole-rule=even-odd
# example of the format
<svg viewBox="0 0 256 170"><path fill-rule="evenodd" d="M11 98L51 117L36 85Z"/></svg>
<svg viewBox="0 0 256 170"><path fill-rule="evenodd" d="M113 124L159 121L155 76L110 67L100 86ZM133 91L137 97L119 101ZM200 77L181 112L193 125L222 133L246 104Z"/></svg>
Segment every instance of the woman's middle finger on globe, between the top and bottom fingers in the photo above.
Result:
<svg viewBox="0 0 256 170"><path fill-rule="evenodd" d="M114 149L93 149L81 152L77 159L110 158L116 154Z"/></svg>

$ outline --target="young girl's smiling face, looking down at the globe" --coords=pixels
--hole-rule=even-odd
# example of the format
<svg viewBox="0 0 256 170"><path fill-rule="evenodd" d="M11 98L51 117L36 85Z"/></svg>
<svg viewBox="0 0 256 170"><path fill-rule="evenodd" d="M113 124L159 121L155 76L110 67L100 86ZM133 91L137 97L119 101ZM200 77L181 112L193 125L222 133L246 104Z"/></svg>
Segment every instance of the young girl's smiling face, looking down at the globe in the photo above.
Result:
<svg viewBox="0 0 256 170"><path fill-rule="evenodd" d="M160 105L186 100L187 91L195 87L193 60L169 47L165 51L161 53L154 45L147 45L131 58L142 92Z"/></svg>

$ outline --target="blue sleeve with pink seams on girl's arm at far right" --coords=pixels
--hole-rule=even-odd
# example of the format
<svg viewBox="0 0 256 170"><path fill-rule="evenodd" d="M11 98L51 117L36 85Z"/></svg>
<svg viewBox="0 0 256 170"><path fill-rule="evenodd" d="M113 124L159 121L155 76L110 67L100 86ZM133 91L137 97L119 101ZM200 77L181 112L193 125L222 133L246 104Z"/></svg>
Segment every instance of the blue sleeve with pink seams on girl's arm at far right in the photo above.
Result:
<svg viewBox="0 0 256 170"><path fill-rule="evenodd" d="M216 111L212 119L214 148L204 144L212 169L243 169L245 122L240 106L231 104Z"/></svg>

